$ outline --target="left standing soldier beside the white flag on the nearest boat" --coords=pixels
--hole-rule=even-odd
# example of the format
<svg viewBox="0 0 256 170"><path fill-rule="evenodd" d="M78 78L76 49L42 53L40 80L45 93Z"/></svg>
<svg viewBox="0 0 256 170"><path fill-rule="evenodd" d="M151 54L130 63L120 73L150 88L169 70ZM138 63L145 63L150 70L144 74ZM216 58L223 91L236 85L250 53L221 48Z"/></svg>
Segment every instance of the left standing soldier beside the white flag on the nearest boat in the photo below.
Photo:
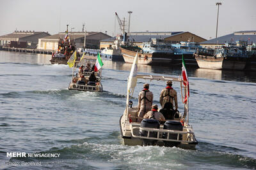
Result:
<svg viewBox="0 0 256 170"><path fill-rule="evenodd" d="M153 104L153 93L148 90L149 84L146 83L143 85L143 90L139 94L138 108L139 114L138 117L143 118L145 113L151 110ZM142 119L139 119L138 122L141 122Z"/></svg>

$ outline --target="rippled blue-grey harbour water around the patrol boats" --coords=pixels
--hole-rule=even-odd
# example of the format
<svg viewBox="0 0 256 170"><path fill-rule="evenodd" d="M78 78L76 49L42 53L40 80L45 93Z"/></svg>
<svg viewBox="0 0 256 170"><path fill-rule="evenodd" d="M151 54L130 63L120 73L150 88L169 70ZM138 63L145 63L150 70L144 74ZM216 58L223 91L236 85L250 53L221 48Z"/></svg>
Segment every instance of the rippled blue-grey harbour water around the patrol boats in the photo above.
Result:
<svg viewBox="0 0 256 170"><path fill-rule="evenodd" d="M190 124L196 150L121 144L119 118L131 64L104 61L104 92L67 90L72 69L51 55L0 51L1 169L255 169L256 73L189 69ZM180 68L139 66L179 76ZM134 104L144 81L134 92ZM165 83L150 82L154 103ZM173 84L180 94L178 84ZM179 103L181 110L182 104ZM6 152L60 153L8 158ZM6 162L40 162L8 166Z"/></svg>

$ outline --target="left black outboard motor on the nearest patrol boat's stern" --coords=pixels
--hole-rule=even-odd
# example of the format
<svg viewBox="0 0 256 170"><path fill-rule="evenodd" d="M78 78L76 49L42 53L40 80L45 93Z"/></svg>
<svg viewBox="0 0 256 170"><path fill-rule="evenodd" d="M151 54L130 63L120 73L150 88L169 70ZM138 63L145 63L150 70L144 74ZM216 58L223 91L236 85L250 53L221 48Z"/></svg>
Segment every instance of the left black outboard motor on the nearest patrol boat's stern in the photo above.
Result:
<svg viewBox="0 0 256 170"><path fill-rule="evenodd" d="M160 124L158 120L144 118L141 121L140 127L149 127L149 128L159 129ZM148 136L148 131L140 130L139 134L140 136ZM149 132L149 137L157 138L157 132ZM155 145L156 141L157 140L152 140L152 139L142 139L142 144L143 146Z"/></svg>

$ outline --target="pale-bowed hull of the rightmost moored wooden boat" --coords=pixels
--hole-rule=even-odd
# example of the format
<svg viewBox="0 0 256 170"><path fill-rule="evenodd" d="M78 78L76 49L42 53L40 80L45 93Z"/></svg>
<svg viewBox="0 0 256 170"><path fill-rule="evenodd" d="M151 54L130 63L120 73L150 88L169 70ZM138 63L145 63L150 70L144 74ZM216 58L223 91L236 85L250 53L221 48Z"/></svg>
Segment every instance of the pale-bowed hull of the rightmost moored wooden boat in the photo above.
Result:
<svg viewBox="0 0 256 170"><path fill-rule="evenodd" d="M195 59L200 68L205 69L233 69L243 70L247 58L244 57L212 57L198 55L195 53Z"/></svg>

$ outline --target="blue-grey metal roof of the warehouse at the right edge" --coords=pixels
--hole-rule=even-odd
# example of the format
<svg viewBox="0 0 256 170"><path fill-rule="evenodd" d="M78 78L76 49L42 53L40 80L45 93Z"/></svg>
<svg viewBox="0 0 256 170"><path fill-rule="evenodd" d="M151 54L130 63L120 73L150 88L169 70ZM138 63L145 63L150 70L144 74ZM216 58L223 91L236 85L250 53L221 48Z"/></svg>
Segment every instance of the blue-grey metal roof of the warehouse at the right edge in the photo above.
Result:
<svg viewBox="0 0 256 170"><path fill-rule="evenodd" d="M204 41L200 44L225 44L235 41L248 41L248 44L250 44L252 42L256 42L256 35L235 35L234 33L232 33L218 38L210 39L208 41Z"/></svg>

